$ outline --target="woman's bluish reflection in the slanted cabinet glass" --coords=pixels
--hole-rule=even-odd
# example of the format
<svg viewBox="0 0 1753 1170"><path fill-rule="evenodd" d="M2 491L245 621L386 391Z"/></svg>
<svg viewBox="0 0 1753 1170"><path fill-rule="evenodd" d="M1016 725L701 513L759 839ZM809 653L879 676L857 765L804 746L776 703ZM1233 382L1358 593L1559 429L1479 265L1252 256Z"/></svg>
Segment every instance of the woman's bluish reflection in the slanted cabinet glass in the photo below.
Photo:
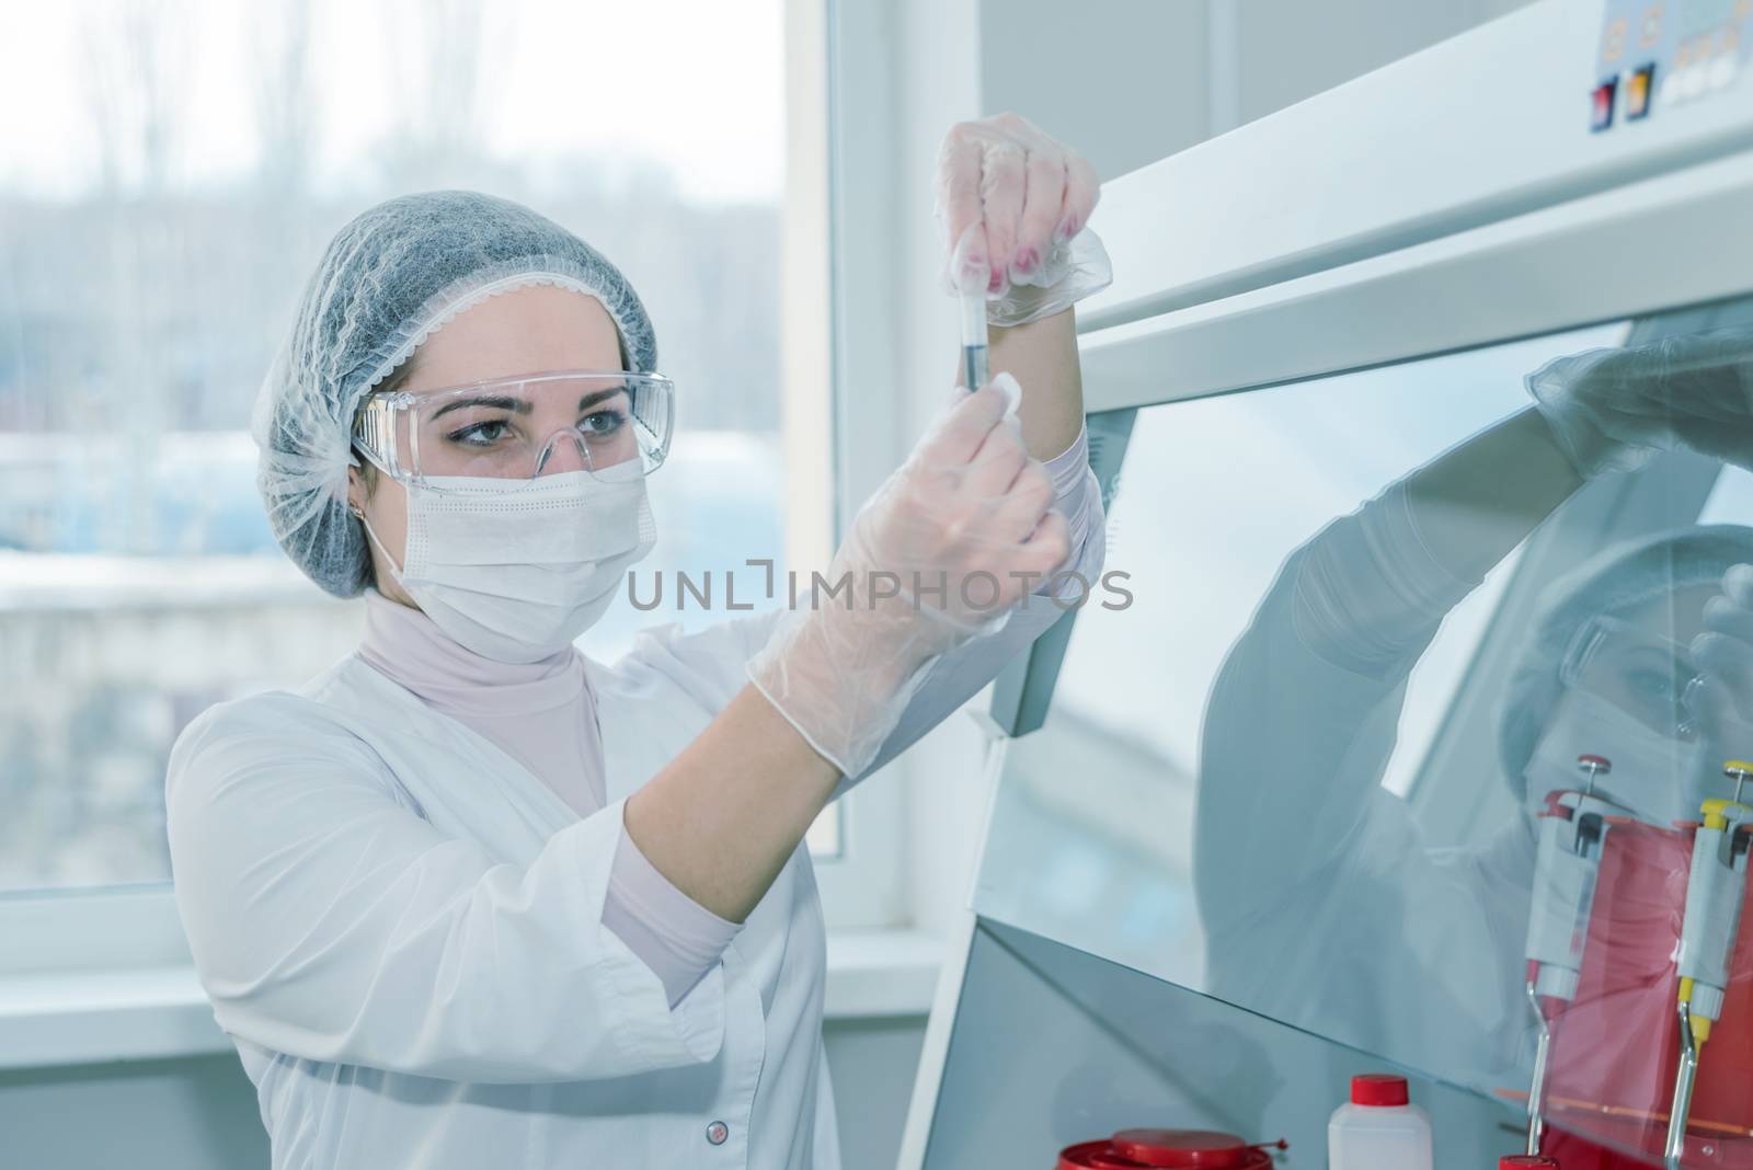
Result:
<svg viewBox="0 0 1753 1170"><path fill-rule="evenodd" d="M1546 585L1502 694L1502 779L1422 781L1511 785L1523 814L1474 844L1429 848L1381 786L1408 678L1446 613L1588 478L1679 447L1753 462L1749 373L1744 329L1558 357L1527 380L1534 408L1290 553L1206 709L1196 874L1213 993L1462 1084L1529 1084L1534 814L1581 786L1585 753L1611 760L1593 792L1651 825L1728 795L1721 760L1753 730L1753 529L1657 532Z"/></svg>

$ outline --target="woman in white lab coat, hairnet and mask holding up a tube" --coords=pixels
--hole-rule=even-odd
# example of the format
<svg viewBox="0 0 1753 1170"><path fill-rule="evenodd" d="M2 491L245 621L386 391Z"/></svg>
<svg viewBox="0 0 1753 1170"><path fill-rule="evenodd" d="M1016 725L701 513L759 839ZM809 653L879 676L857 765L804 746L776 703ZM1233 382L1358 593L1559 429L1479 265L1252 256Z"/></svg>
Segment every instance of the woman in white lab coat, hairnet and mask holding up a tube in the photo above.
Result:
<svg viewBox="0 0 1753 1170"><path fill-rule="evenodd" d="M859 511L843 592L614 666L573 639L654 538L671 398L638 296L466 191L330 242L254 431L280 545L365 594L365 636L205 711L167 779L277 1168L840 1165L803 834L1062 613L1055 571L1099 571L1068 312L1106 280L1096 198L1022 119L952 130L940 215L1017 377Z"/></svg>

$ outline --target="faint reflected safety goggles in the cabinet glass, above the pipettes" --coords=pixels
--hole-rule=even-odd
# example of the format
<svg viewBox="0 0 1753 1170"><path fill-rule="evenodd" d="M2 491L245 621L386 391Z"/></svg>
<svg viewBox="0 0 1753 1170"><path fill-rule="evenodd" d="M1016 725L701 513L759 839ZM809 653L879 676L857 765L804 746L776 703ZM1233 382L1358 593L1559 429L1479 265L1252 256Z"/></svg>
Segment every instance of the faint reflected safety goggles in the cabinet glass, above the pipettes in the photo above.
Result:
<svg viewBox="0 0 1753 1170"><path fill-rule="evenodd" d="M1592 618L1571 639L1558 680L1667 739L1690 743L1699 736L1706 683L1692 652L1671 638L1611 617Z"/></svg>

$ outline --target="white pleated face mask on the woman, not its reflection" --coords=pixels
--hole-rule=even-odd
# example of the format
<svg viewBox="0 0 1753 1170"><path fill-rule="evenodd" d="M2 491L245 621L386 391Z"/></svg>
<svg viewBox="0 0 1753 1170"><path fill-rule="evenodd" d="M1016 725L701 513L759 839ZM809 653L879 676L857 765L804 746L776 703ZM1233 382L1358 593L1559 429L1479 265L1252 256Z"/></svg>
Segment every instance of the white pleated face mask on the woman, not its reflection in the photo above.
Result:
<svg viewBox="0 0 1753 1170"><path fill-rule="evenodd" d="M366 532L438 629L496 662L570 646L657 539L638 461L535 480L408 483L407 562Z"/></svg>

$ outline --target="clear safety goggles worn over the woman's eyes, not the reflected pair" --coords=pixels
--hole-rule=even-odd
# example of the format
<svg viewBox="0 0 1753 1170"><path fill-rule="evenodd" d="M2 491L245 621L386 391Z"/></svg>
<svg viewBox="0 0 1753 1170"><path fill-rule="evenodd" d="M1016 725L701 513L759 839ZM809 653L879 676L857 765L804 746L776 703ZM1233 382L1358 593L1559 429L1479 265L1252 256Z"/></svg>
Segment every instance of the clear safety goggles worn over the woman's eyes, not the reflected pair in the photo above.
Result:
<svg viewBox="0 0 1753 1170"><path fill-rule="evenodd" d="M531 480L600 473L670 452L675 387L656 373L563 370L436 391L379 391L352 441L391 478L445 490L445 478ZM436 480L436 482L433 482Z"/></svg>

